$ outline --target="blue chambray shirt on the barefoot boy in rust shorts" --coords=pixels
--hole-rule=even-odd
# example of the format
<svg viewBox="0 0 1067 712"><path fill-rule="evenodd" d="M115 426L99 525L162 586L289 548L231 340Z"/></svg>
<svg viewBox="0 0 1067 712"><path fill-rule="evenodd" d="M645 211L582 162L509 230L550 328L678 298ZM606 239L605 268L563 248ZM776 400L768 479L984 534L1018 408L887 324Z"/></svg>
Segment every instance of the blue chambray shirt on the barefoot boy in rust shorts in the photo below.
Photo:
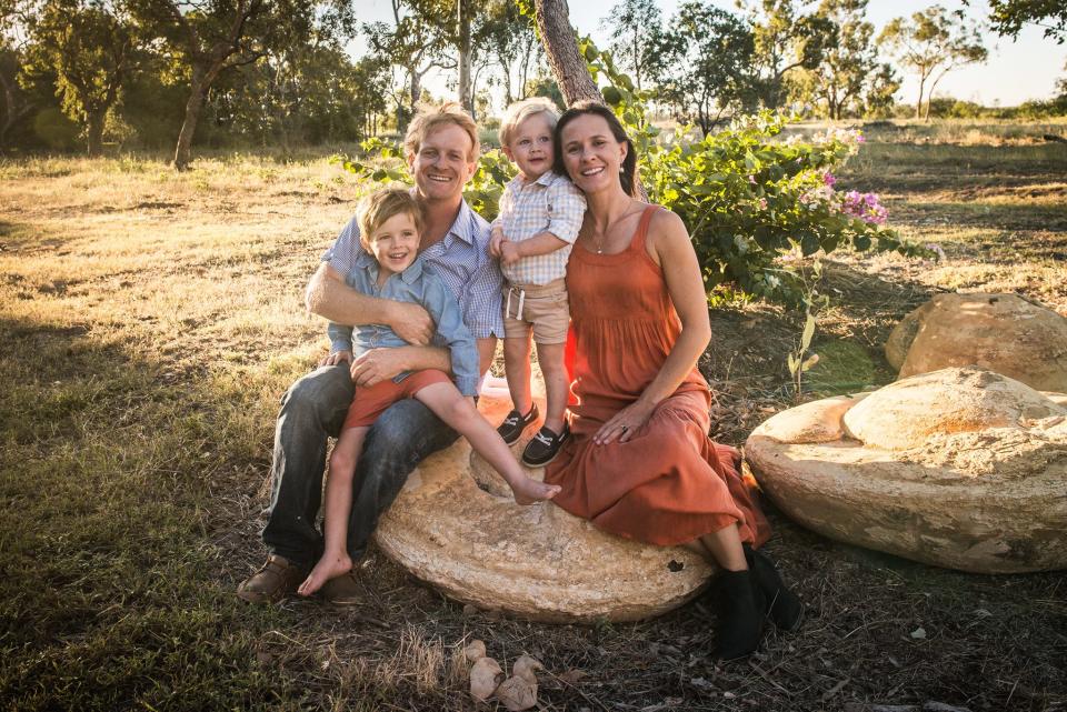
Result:
<svg viewBox="0 0 1067 712"><path fill-rule="evenodd" d="M452 379L456 388L463 395L475 395L478 392L478 348L470 330L463 325L459 313L459 304L433 268L423 264L419 257L400 274L390 274L386 283L378 287L378 261L368 253L356 260L356 265L349 270L345 283L352 289L381 299L392 299L400 302L415 302L429 312L437 324L433 334L433 345L448 347L452 357ZM362 324L352 327L331 323L327 330L333 351L351 349L353 353L362 353L368 349L395 349L408 345L408 342L385 324ZM393 381L399 383L410 375L405 371Z"/></svg>

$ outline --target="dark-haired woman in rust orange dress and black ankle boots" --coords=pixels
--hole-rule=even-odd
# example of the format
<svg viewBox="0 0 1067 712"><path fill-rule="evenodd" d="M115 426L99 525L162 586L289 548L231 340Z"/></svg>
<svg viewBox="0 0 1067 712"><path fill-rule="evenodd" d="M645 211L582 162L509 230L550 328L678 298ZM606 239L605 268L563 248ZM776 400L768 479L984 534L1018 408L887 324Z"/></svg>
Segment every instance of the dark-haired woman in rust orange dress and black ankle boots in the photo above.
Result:
<svg viewBox="0 0 1067 712"><path fill-rule="evenodd" d="M707 437L711 394L696 363L711 327L689 234L678 215L632 197L637 157L610 109L569 109L555 150L588 210L567 268L579 403L545 481L561 485L557 504L600 529L685 544L721 566L715 653L747 655L765 613L794 629L802 609L752 549L769 528L737 450Z"/></svg>

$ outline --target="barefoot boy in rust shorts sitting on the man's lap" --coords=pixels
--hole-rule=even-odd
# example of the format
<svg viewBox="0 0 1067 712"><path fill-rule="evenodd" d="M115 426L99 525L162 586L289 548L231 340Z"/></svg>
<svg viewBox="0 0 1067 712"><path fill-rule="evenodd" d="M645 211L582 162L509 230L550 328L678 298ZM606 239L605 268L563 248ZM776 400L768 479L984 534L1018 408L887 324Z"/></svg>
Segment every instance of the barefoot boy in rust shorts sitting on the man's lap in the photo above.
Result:
<svg viewBox="0 0 1067 712"><path fill-rule="evenodd" d="M360 240L373 259L358 264L346 277L349 287L366 294L421 304L437 324L436 342L448 345L456 383L441 371L405 372L371 387L357 387L356 397L330 455L326 482L326 549L298 589L310 595L333 576L352 568L348 554L348 518L352 475L363 438L375 419L401 398L415 398L470 441L471 447L503 475L515 501L532 504L559 492L555 485L526 477L500 435L478 413L472 397L478 388L478 351L463 325L459 305L443 282L417 260L422 212L405 189L382 189L370 194L357 212ZM399 347L403 341L388 327L370 324L352 333L351 327L330 324L338 361L352 361L352 342L363 349ZM355 375L355 374L353 374Z"/></svg>

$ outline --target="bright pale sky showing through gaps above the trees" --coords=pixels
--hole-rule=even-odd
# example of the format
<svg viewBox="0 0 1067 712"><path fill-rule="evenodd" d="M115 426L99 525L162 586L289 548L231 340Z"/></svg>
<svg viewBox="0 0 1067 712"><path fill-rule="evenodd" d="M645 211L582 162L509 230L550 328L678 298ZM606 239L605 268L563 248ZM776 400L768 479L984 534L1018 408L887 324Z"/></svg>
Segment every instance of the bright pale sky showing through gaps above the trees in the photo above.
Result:
<svg viewBox="0 0 1067 712"><path fill-rule="evenodd" d="M590 34L598 46L606 46L607 32L600 24L616 1L571 0L570 22L580 34ZM669 18L680 0L656 0L656 3L664 11L664 17ZM711 0L711 4L736 11L732 0ZM877 37L891 19L909 16L931 4L934 0L869 0L867 19L875 26ZM971 0L969 8L964 6L961 0L943 0L940 4L949 10L964 8L969 17L977 20L988 16L988 6L983 0ZM365 21L392 21L389 0L362 0L358 14ZM1038 27L1025 28L1015 41L998 37L991 31L987 31L984 38L986 49L989 50L988 60L949 72L938 84L938 96L951 96L986 106L1011 107L1029 99L1050 98L1055 92L1056 81L1067 78L1067 43L1057 44L1055 40L1046 39ZM353 43L355 54L363 51L361 41ZM915 103L918 80L900 68L897 72L904 77L897 99ZM436 96L451 93L451 90L447 89L445 76L428 78L425 84Z"/></svg>

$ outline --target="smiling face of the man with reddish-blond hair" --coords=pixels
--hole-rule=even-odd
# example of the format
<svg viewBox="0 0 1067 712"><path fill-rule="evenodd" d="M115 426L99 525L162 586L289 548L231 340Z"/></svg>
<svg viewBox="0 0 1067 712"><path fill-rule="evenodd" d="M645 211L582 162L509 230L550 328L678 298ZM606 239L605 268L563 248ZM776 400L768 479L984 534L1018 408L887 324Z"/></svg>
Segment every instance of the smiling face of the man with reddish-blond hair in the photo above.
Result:
<svg viewBox="0 0 1067 712"><path fill-rule="evenodd" d="M473 143L455 123L426 134L418 153L408 154L408 168L419 197L428 201L459 200L463 185L475 174Z"/></svg>

